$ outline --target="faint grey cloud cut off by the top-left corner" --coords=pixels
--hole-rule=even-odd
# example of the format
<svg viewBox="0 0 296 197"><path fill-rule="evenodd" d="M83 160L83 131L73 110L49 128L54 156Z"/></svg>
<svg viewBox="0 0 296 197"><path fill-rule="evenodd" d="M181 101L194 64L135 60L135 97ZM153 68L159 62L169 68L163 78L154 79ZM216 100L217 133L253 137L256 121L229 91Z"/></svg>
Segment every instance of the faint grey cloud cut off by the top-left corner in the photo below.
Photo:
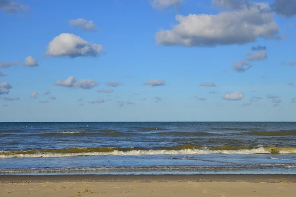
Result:
<svg viewBox="0 0 296 197"><path fill-rule="evenodd" d="M0 0L0 11L4 11L8 14L27 12L29 10L28 5L19 4L11 0Z"/></svg>

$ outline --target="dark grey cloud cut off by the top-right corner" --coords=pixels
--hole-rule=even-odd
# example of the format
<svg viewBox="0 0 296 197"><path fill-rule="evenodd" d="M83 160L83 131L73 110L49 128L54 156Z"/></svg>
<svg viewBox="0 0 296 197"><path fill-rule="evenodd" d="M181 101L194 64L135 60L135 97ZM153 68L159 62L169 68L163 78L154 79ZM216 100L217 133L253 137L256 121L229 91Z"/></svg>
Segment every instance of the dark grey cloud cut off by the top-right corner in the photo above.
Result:
<svg viewBox="0 0 296 197"><path fill-rule="evenodd" d="M287 18L296 15L296 1L295 0L274 0L271 5L273 10Z"/></svg>

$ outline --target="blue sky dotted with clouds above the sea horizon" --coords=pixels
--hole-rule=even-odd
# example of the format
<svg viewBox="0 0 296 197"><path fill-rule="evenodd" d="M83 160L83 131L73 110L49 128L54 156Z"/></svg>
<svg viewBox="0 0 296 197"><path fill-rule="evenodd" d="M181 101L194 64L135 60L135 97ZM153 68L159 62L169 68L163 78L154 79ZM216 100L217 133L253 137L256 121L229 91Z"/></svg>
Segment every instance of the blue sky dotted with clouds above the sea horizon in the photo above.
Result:
<svg viewBox="0 0 296 197"><path fill-rule="evenodd" d="M296 0L0 0L0 122L296 121Z"/></svg>

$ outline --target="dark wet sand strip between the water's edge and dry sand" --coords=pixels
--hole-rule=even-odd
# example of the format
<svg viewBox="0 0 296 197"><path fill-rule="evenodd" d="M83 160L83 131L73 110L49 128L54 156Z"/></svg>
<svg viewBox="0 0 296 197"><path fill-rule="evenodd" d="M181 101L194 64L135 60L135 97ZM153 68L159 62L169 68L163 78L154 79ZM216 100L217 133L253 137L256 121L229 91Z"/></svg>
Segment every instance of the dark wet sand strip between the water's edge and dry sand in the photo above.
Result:
<svg viewBox="0 0 296 197"><path fill-rule="evenodd" d="M1 183L32 182L250 182L296 183L296 174L196 174L196 175L0 175Z"/></svg>

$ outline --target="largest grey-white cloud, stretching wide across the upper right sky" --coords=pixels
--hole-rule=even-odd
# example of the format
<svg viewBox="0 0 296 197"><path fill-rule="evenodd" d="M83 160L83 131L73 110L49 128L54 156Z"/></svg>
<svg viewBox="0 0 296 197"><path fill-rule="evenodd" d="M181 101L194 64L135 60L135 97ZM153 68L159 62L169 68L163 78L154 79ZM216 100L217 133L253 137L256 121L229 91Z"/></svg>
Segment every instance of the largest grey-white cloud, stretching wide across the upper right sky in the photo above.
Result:
<svg viewBox="0 0 296 197"><path fill-rule="evenodd" d="M227 4L230 0L216 2ZM231 0L230 10L218 14L177 15L178 24L172 30L160 30L155 34L157 44L211 47L245 44L259 38L279 39L279 28L268 3L244 1L234 5L235 2Z"/></svg>

